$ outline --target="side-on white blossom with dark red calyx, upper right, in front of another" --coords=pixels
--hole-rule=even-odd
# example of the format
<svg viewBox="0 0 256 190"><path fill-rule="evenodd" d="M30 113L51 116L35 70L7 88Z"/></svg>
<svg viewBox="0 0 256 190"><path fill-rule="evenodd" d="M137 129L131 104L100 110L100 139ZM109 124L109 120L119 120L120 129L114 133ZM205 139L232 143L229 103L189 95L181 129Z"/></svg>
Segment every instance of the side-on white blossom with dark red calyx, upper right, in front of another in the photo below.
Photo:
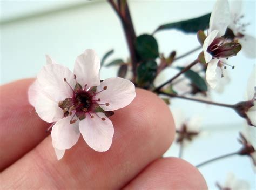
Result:
<svg viewBox="0 0 256 190"><path fill-rule="evenodd" d="M225 60L235 56L241 45L223 38L230 24L230 10L227 0L217 0L211 13L208 35L203 43L204 59L207 63L206 81L214 89L223 76Z"/></svg>

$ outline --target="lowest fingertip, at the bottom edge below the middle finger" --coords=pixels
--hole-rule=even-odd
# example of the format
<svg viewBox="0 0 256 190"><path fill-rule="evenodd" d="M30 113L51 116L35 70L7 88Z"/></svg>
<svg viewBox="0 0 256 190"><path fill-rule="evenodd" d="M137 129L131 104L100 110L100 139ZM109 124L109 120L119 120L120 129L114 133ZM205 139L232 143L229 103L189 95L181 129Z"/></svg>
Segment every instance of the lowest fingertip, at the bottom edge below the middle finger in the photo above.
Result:
<svg viewBox="0 0 256 190"><path fill-rule="evenodd" d="M198 169L179 158L161 158L147 166L124 189L207 189Z"/></svg>

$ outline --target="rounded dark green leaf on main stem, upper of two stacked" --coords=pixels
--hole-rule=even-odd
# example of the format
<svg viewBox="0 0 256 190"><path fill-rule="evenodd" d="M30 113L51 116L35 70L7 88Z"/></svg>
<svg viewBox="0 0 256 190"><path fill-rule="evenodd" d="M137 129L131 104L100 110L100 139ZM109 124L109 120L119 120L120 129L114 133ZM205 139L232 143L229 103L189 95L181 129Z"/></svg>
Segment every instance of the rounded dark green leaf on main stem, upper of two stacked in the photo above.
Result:
<svg viewBox="0 0 256 190"><path fill-rule="evenodd" d="M140 60L154 60L159 56L157 40L151 35L138 36L134 45Z"/></svg>

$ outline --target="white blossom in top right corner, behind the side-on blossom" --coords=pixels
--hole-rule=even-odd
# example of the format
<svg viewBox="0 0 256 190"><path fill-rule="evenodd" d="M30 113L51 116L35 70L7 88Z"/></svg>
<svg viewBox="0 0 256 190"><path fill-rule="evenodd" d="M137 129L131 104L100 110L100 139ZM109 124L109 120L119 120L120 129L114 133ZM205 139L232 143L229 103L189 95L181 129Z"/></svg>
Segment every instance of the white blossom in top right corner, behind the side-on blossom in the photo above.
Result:
<svg viewBox="0 0 256 190"><path fill-rule="evenodd" d="M256 39L246 33L246 26L249 23L242 21L242 1L230 2L230 24L224 35L225 38L237 40L242 45L242 52L249 58L256 57Z"/></svg>

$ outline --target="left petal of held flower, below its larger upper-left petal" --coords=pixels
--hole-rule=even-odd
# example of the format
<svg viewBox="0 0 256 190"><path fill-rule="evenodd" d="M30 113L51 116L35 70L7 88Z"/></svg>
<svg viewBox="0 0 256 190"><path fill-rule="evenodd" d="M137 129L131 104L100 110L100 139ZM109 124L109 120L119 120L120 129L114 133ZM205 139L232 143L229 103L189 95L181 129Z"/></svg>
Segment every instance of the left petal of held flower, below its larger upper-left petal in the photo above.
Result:
<svg viewBox="0 0 256 190"><path fill-rule="evenodd" d="M63 118L63 111L58 103L43 92L38 94L35 108L38 116L48 123Z"/></svg>

